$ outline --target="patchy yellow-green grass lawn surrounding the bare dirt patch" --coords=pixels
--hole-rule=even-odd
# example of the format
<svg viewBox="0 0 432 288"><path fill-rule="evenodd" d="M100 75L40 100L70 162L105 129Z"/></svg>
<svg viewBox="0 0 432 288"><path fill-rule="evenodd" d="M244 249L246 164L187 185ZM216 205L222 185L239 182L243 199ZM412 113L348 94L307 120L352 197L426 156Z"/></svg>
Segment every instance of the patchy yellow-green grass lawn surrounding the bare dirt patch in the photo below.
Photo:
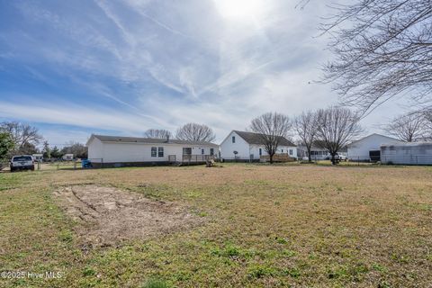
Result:
<svg viewBox="0 0 432 288"><path fill-rule="evenodd" d="M55 191L175 202L200 224L85 243ZM0 287L428 287L432 168L244 165L0 173ZM61 277L37 275L59 273Z"/></svg>

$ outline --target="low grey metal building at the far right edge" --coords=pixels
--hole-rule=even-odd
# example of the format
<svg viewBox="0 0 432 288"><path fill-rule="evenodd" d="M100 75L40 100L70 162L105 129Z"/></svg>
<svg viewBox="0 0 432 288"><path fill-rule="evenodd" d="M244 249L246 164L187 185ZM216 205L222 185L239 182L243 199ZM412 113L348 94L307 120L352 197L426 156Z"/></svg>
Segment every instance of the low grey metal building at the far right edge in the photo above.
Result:
<svg viewBox="0 0 432 288"><path fill-rule="evenodd" d="M384 164L432 165L432 142L382 145L381 162Z"/></svg>

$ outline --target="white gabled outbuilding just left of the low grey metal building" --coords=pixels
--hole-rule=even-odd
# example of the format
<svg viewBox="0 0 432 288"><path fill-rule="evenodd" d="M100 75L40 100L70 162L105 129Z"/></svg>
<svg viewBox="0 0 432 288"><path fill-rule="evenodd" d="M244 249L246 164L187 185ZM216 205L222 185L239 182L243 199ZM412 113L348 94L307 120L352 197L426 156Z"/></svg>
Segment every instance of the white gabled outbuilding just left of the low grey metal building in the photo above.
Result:
<svg viewBox="0 0 432 288"><path fill-rule="evenodd" d="M374 133L348 144L348 159L353 161L380 161L382 145L400 143L403 142Z"/></svg>

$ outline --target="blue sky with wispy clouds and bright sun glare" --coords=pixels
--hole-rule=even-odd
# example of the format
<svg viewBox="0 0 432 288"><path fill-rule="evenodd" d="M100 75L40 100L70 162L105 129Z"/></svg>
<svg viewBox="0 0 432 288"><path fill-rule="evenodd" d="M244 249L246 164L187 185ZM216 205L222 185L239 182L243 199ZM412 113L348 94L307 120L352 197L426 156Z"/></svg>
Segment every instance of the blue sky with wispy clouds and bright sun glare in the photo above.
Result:
<svg viewBox="0 0 432 288"><path fill-rule="evenodd" d="M223 139L263 112L338 103L315 84L332 56L322 1L0 0L0 121L52 144L195 121ZM402 108L386 103L369 131Z"/></svg>

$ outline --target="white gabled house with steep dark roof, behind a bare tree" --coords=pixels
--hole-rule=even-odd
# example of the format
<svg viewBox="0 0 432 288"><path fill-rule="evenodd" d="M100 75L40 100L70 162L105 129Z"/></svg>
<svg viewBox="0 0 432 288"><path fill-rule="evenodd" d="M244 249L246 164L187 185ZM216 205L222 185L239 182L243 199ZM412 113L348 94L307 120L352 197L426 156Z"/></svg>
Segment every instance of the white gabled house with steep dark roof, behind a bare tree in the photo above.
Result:
<svg viewBox="0 0 432 288"><path fill-rule="evenodd" d="M253 132L232 130L220 143L220 158L225 161L259 161L261 156L268 155L260 135ZM276 154L288 154L297 157L297 147L284 137L279 141Z"/></svg>

